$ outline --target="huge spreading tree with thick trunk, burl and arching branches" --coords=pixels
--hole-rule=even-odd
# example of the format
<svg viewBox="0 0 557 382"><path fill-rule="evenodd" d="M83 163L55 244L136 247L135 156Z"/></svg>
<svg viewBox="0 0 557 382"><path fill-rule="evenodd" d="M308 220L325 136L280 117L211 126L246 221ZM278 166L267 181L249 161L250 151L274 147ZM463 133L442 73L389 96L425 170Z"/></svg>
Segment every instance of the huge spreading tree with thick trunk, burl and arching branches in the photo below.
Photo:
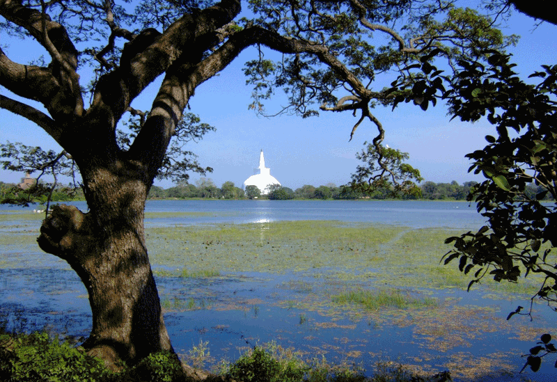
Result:
<svg viewBox="0 0 557 382"><path fill-rule="evenodd" d="M109 365L173 351L150 269L144 208L203 81L246 47L279 51L285 57L276 62L260 54L246 64L254 86L251 107L265 113L265 100L283 88L283 112L359 114L352 134L364 120L377 127L372 144L382 167L384 129L371 110L412 93L417 79L408 67L425 67L435 56L451 65L483 61L480 49L507 43L489 19L438 1L419 7L411 0L246 4L253 19L235 22L240 0L139 1L135 8L100 0L0 1L3 30L23 37L24 44L38 43L49 60L16 63L2 47L0 85L15 95L0 95L0 107L36 123L71 157L89 208L54 207L38 244L68 262L84 282L93 329L83 345ZM407 22L399 29L404 35L393 20ZM387 39L374 41L380 34ZM395 90L372 88L383 74L398 79ZM159 76L150 111L132 109ZM414 97L422 109L428 101ZM122 139L118 130L127 113L140 121Z"/></svg>

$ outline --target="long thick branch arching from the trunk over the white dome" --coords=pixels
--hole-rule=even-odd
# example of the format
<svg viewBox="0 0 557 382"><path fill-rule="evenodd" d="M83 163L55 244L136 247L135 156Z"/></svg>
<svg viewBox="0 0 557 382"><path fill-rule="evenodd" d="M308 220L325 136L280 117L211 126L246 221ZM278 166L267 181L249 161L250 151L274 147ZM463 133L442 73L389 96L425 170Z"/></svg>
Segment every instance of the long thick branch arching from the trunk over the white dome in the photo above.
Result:
<svg viewBox="0 0 557 382"><path fill-rule="evenodd" d="M379 127L380 134L376 139L379 139L380 143L384 132L382 132L379 121L369 113L367 106L370 98L377 93L371 92L366 86L363 86L361 81L343 63L329 53L327 47L286 38L259 26L251 26L230 35L230 38L217 51L214 51L198 65L192 66L190 63L185 63L176 69L168 70L155 102L153 102L149 118L128 153L143 164L148 164L150 171L155 171L159 167L159 161L162 161L164 157L164 151L174 128L182 117L189 98L194 95L196 87L228 66L243 49L255 44L266 45L286 54L313 54L322 63L335 70L350 84L354 92L361 96L361 100L363 100L361 104L365 104L365 107L361 106L359 109L362 109L366 117ZM159 154L152 155L153 152ZM152 157L149 157L147 153Z"/></svg>

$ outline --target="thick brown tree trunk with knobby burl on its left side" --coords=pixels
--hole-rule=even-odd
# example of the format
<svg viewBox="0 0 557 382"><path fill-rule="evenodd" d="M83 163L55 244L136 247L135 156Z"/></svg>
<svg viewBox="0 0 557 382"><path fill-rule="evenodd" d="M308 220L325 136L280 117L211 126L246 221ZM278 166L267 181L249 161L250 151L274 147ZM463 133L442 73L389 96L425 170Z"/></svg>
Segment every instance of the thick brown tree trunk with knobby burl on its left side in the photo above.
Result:
<svg viewBox="0 0 557 382"><path fill-rule="evenodd" d="M38 243L66 260L87 288L93 329L84 347L111 367L173 352L143 232L150 180L123 161L80 170L90 212L54 207Z"/></svg>

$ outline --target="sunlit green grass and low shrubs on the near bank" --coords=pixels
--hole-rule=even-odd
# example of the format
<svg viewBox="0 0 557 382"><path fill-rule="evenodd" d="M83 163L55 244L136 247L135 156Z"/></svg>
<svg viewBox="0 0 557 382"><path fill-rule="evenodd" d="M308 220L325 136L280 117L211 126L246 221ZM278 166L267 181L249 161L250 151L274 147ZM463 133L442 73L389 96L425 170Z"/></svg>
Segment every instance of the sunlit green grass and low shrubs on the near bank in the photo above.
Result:
<svg viewBox="0 0 557 382"><path fill-rule="evenodd" d="M198 369L212 363L209 342L199 341L187 354L187 363ZM139 365L124 365L118 373L109 372L102 360L88 356L69 342L60 342L46 332L21 335L6 333L0 327L0 372L9 381L184 381L171 353L152 353ZM214 372L223 378L207 381L244 382L410 382L416 379L403 367L379 365L377 374L366 378L357 366L330 364L324 356L304 358L301 353L275 342L244 351L234 363L221 360ZM404 378L402 378L404 377ZM189 380L189 379L188 379Z"/></svg>

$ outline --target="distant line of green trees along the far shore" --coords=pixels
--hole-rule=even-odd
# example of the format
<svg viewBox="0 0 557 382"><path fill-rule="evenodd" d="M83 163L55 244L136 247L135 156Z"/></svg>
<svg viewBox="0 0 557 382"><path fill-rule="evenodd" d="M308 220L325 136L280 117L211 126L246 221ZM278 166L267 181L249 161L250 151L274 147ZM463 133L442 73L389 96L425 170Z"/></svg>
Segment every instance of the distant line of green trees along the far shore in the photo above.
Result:
<svg viewBox="0 0 557 382"><path fill-rule="evenodd" d="M290 200L290 199L322 199L322 200L354 200L354 199L400 199L400 200L466 200L472 187L478 182L464 182L458 184L456 181L450 183L424 182L419 187L421 196L407 194L393 194L392 188L386 185L377 188L372 192L354 189L350 185L336 186L327 184L324 186L311 186L306 184L298 189L292 190L286 186L273 185L269 187L267 195L262 195L262 190L256 186L247 186L245 190L235 186L234 182L224 182L217 187L211 179L202 177L195 184L179 182L173 187L163 189L159 186L152 186L149 199L254 199L265 198L269 200ZM2 200L13 197L15 193L22 192L17 184L0 182L0 197ZM526 186L525 193L531 198L540 193L540 186L529 184ZM40 196L34 201L45 202L46 196ZM83 194L77 192L75 195L68 195L67 187L60 186L52 193L52 201L63 202L68 200L84 200ZM548 194L545 200L551 200Z"/></svg>

